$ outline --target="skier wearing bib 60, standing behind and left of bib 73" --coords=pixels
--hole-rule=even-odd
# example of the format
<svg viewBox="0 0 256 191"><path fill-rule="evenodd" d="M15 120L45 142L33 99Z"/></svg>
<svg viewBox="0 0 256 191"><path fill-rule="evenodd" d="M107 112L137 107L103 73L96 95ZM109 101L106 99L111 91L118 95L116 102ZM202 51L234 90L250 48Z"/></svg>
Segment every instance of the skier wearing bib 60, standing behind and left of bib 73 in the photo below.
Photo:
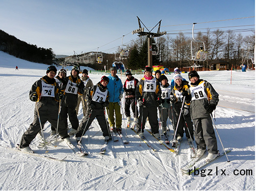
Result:
<svg viewBox="0 0 256 191"><path fill-rule="evenodd" d="M62 92L64 93L64 98L61 104L60 115L68 128L68 117L69 121L72 125L72 129L69 134L75 134L77 128L79 126L79 122L77 119L77 95L82 95L84 92L84 83L81 81L79 77L79 68L77 66L73 66L70 72L70 76L65 79L65 83L62 86Z"/></svg>

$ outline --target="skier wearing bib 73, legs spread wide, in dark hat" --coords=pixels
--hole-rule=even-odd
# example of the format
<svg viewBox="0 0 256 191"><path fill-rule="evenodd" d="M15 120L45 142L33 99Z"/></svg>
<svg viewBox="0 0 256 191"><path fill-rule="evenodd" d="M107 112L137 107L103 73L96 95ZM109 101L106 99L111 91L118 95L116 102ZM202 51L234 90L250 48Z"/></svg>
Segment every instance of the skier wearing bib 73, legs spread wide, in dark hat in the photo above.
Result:
<svg viewBox="0 0 256 191"><path fill-rule="evenodd" d="M109 92L106 87L108 82L108 77L102 76L101 81L97 83L97 85L90 87L87 91L85 99L88 103L88 108L86 110L85 117L83 117L82 122L77 129L77 142L80 141L81 137L89 129L92 121L95 118L98 120L98 123L102 129L105 141L110 139L109 128L104 114L104 109L109 103ZM82 134L83 132L84 134Z"/></svg>

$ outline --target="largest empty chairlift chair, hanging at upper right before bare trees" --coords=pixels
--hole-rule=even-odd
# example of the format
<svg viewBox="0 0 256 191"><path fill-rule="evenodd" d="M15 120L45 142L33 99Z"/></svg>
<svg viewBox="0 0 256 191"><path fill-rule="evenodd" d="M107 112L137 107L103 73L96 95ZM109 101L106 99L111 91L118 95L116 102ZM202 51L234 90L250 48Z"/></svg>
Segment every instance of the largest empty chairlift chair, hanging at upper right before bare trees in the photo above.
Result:
<svg viewBox="0 0 256 191"><path fill-rule="evenodd" d="M193 24L193 28L192 28L192 37L193 37L193 40L191 41L190 43L190 49L191 49L191 60L194 60L194 61L205 61L206 58L207 58L207 52L205 51L205 43L203 41L199 41L199 40L196 40L194 38L194 26L195 26L196 23ZM193 53L193 46L195 47L203 47L203 51L196 51Z"/></svg>

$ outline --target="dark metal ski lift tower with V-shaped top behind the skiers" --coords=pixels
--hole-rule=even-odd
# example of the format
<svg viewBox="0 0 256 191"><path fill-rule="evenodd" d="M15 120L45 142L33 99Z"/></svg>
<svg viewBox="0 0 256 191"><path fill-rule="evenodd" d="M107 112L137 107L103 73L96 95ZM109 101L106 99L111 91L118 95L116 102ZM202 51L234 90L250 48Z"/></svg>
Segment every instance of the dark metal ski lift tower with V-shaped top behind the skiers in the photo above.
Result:
<svg viewBox="0 0 256 191"><path fill-rule="evenodd" d="M138 16L137 16L137 18L138 18ZM166 31L160 32L161 21L162 21L162 20L160 20L160 21L157 23L157 24L159 24L159 25L158 25L157 33L153 33L153 32L151 32L151 31L155 28L155 26L156 26L157 24L156 24L151 30L149 30L149 29L145 26L145 24L143 24L142 21L138 18L139 28L136 29L136 30L133 30L133 31L131 32L131 34L138 33L138 36L147 36L147 37L148 37L148 66L151 67L151 68L153 67L153 63L152 63L152 38L154 38L154 37L159 37L159 36L162 36L162 35L166 35L166 34L167 34ZM142 23L142 24L145 26L145 28L148 30L148 32L144 32L144 28L141 27L141 24L140 24L140 23Z"/></svg>

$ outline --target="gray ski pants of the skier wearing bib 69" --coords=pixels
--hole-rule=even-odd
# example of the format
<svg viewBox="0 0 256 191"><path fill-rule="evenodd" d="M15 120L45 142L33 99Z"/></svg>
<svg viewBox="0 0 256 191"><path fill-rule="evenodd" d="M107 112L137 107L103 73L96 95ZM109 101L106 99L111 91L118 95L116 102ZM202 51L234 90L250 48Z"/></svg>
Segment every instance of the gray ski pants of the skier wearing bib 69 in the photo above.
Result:
<svg viewBox="0 0 256 191"><path fill-rule="evenodd" d="M208 153L217 154L217 140L212 126L211 117L193 119L195 125L195 141L198 149L206 149Z"/></svg>

